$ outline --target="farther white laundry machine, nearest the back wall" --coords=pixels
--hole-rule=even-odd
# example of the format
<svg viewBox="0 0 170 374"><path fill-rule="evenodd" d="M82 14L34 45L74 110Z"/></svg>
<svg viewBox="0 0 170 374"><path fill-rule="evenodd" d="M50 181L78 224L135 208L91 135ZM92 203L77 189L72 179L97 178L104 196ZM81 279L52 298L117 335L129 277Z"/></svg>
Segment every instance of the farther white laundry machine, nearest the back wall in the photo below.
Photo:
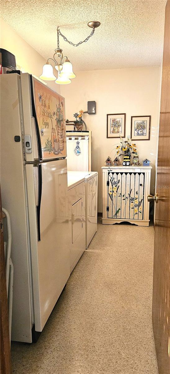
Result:
<svg viewBox="0 0 170 374"><path fill-rule="evenodd" d="M98 172L91 171L85 176L86 191L86 249L97 232L97 189Z"/></svg>

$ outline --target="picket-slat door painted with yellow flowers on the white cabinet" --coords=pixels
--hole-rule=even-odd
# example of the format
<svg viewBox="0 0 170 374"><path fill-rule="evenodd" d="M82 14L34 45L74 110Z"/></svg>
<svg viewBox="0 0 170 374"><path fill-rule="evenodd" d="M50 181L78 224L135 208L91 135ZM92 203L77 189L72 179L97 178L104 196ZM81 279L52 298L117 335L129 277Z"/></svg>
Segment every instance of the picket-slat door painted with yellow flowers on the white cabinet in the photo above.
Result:
<svg viewBox="0 0 170 374"><path fill-rule="evenodd" d="M107 218L143 220L145 173L108 172Z"/></svg>

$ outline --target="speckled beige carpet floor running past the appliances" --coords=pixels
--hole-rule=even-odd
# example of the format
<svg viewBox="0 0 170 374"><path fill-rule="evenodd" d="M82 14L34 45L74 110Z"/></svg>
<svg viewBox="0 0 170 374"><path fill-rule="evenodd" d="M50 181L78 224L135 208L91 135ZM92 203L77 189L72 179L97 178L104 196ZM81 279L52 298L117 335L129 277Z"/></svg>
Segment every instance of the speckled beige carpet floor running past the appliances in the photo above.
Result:
<svg viewBox="0 0 170 374"><path fill-rule="evenodd" d="M158 374L151 322L154 230L102 225L15 374Z"/></svg>

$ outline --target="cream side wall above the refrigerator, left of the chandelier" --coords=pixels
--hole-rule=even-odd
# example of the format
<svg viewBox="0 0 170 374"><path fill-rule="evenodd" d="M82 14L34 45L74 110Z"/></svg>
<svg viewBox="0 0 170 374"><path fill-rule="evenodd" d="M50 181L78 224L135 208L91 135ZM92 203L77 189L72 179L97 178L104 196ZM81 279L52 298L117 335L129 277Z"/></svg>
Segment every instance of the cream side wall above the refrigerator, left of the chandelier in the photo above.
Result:
<svg viewBox="0 0 170 374"><path fill-rule="evenodd" d="M21 70L39 77L46 60L28 43L25 42L3 19L0 19L0 47L13 53L16 64ZM54 91L60 93L60 85L46 82Z"/></svg>

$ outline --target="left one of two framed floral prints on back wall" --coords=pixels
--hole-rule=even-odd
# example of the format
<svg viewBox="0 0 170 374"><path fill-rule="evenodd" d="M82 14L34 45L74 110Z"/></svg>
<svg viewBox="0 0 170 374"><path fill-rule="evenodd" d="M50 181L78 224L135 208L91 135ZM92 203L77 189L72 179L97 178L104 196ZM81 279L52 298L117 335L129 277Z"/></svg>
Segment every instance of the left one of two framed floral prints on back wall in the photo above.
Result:
<svg viewBox="0 0 170 374"><path fill-rule="evenodd" d="M107 114L107 138L125 138L126 114Z"/></svg>

